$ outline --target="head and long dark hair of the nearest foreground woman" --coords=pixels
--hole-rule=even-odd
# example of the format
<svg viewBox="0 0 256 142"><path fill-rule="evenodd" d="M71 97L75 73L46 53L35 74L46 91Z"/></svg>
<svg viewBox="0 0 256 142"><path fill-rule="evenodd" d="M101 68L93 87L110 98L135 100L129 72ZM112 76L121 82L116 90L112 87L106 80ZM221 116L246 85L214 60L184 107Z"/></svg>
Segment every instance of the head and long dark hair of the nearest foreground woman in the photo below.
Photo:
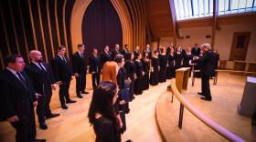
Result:
<svg viewBox="0 0 256 142"><path fill-rule="evenodd" d="M91 106L89 108L89 121L94 124L96 121L95 115L101 114L102 117L106 117L112 120L117 125L115 111L113 104L117 99L118 87L116 84L109 81L102 81L97 88L93 91Z"/></svg>

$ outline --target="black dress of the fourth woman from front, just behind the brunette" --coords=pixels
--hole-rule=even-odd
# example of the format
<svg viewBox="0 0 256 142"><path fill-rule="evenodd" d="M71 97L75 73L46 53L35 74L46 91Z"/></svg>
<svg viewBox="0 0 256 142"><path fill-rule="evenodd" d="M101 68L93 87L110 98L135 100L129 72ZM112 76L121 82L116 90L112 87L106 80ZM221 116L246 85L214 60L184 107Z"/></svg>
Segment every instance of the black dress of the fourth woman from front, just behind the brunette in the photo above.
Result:
<svg viewBox="0 0 256 142"><path fill-rule="evenodd" d="M136 76L136 66L135 66L134 62L127 61L124 64L124 68L126 69L127 75L131 79L131 84L130 84L130 101L132 101L134 99L133 94L134 94L134 79L135 79L135 76Z"/></svg>

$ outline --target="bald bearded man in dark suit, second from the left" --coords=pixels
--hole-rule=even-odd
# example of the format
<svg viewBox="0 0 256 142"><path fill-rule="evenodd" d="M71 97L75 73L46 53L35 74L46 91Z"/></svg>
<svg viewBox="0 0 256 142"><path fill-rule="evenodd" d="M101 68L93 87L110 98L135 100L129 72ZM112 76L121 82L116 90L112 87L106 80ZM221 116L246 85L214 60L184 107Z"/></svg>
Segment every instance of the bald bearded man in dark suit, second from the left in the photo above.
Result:
<svg viewBox="0 0 256 142"><path fill-rule="evenodd" d="M37 94L37 117L39 127L47 129L46 118L58 117L59 114L51 113L49 103L52 96L52 88L55 89L54 79L48 64L42 61L42 54L40 51L31 50L29 52L31 63L25 68L27 75L30 78L32 85Z"/></svg>

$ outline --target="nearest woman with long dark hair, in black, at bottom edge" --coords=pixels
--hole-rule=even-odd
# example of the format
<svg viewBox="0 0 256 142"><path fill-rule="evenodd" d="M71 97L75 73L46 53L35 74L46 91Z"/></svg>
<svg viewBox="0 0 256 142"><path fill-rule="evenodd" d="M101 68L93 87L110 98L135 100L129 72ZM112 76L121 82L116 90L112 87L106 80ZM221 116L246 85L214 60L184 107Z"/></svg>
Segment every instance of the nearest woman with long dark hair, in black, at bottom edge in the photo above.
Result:
<svg viewBox="0 0 256 142"><path fill-rule="evenodd" d="M93 91L88 117L96 142L121 142L120 128L113 104L117 99L116 84L102 81Z"/></svg>

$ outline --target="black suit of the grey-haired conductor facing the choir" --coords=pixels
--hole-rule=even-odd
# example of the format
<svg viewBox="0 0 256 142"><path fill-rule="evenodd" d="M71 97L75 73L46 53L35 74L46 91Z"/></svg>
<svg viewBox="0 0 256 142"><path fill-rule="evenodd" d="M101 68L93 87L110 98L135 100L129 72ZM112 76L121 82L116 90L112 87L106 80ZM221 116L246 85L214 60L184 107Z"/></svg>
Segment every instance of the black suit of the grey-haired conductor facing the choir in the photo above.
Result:
<svg viewBox="0 0 256 142"><path fill-rule="evenodd" d="M206 96L206 98L208 99L211 99L210 88L208 83L209 77L214 76L215 73L214 57L214 53L209 50L206 53L204 53L204 55L198 61L202 81L202 94Z"/></svg>

